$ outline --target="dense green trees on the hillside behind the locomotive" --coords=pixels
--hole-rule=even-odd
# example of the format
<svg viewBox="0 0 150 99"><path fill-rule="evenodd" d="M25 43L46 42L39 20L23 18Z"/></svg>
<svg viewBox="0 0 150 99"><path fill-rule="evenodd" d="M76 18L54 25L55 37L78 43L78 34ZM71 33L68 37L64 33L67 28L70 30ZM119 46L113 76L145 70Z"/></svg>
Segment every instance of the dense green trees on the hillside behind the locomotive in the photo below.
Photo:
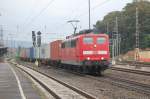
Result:
<svg viewBox="0 0 150 99"><path fill-rule="evenodd" d="M150 48L150 2L147 0L134 0L128 3L122 11L110 12L94 25L96 29L105 33L108 26L109 33L112 33L115 18L118 17L122 53L135 47L136 7L139 10L140 48Z"/></svg>

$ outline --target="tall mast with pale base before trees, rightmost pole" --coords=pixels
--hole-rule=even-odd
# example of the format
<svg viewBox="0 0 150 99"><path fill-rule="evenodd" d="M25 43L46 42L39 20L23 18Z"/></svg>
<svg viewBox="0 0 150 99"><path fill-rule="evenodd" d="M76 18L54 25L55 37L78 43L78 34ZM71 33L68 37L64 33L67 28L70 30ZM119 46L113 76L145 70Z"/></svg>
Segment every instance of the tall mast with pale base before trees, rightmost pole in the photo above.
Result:
<svg viewBox="0 0 150 99"><path fill-rule="evenodd" d="M136 7L135 61L139 60L139 11Z"/></svg>

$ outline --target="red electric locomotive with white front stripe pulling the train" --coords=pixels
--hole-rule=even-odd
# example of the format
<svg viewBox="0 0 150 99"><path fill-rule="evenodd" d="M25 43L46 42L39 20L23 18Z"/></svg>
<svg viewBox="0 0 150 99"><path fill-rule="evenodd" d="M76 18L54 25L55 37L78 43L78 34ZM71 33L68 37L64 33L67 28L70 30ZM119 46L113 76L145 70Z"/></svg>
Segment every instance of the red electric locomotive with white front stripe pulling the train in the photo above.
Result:
<svg viewBox="0 0 150 99"><path fill-rule="evenodd" d="M61 44L61 63L84 73L101 73L109 66L109 38L106 34L83 33Z"/></svg>

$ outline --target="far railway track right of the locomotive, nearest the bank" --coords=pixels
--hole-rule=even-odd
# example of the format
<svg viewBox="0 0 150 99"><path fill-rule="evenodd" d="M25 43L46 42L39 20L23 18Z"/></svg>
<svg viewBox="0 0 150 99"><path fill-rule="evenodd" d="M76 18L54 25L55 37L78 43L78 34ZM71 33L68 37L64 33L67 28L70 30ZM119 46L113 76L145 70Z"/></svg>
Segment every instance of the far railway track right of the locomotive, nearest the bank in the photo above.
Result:
<svg viewBox="0 0 150 99"><path fill-rule="evenodd" d="M148 72L148 71L133 70L133 69L119 68L119 67L111 67L110 69L116 70L116 71L123 71L123 72L129 72L129 73L135 73L135 74L150 76L150 72Z"/></svg>

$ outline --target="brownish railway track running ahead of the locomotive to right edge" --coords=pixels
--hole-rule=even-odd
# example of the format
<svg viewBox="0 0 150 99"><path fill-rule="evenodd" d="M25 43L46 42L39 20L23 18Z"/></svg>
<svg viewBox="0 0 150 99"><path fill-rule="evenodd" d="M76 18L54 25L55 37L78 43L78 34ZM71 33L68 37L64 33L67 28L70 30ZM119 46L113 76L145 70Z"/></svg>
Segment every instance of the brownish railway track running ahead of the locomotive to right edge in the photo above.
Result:
<svg viewBox="0 0 150 99"><path fill-rule="evenodd" d="M114 77L114 76L107 76L107 75L105 75L104 77L94 77L94 76L88 75L86 77L94 79L94 80L98 80L101 82L110 83L117 87L122 87L128 90L134 90L134 91L146 94L146 95L150 95L150 85L148 84L143 84L143 83L139 83L133 80L123 79L123 78Z"/></svg>

